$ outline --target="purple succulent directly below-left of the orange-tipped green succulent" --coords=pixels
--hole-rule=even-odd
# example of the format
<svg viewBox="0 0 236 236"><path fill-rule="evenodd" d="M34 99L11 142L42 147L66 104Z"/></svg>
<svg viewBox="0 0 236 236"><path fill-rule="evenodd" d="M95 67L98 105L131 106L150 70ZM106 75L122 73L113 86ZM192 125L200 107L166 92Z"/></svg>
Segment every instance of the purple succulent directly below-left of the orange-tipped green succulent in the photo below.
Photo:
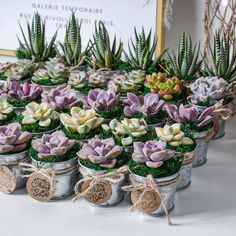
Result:
<svg viewBox="0 0 236 236"><path fill-rule="evenodd" d="M158 94L149 93L144 97L138 97L133 93L127 93L127 98L124 101L127 105L124 108L124 113L128 117L133 117L137 113L141 113L144 116L154 116L164 105L164 101L159 100Z"/></svg>

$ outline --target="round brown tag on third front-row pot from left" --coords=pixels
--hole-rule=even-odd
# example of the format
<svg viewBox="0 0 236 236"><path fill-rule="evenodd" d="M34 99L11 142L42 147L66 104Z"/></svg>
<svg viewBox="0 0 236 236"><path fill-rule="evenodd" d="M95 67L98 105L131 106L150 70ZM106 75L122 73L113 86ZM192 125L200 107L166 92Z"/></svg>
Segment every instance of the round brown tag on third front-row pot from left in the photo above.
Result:
<svg viewBox="0 0 236 236"><path fill-rule="evenodd" d="M84 192L89 186L91 181L86 181L82 185L82 192ZM88 202L95 205L101 205L107 202L112 195L111 185L107 181L99 181L84 197Z"/></svg>

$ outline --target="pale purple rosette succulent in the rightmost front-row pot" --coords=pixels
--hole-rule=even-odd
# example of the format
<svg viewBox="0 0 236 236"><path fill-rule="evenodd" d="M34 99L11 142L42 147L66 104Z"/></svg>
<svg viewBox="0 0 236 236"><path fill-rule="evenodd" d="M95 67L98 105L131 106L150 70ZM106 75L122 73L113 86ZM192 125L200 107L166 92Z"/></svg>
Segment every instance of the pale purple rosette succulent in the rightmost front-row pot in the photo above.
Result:
<svg viewBox="0 0 236 236"><path fill-rule="evenodd" d="M166 142L135 142L132 159L136 163L145 163L149 168L158 168L174 156L175 152L166 149Z"/></svg>

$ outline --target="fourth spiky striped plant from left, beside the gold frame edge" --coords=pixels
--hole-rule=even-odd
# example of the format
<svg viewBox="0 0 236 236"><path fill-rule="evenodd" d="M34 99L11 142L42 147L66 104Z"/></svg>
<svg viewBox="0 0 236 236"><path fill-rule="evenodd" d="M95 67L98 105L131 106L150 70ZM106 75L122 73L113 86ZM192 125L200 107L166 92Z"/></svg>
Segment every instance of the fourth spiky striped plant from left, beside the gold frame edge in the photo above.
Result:
<svg viewBox="0 0 236 236"><path fill-rule="evenodd" d="M124 51L126 61L129 63L131 69L147 71L149 68L155 68L161 62L166 50L153 60L157 39L154 37L152 40L152 31L150 30L146 37L144 28L142 28L142 33L140 34L134 28L134 35L135 41L131 39L128 42L128 52Z"/></svg>

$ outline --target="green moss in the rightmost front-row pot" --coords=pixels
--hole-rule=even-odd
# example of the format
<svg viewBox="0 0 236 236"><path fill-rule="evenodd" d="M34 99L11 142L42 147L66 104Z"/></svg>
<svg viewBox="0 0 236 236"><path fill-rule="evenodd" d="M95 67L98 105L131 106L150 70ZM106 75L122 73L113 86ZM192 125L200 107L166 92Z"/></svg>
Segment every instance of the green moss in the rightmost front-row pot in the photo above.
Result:
<svg viewBox="0 0 236 236"><path fill-rule="evenodd" d="M149 168L145 163L136 163L134 160L130 160L128 165L129 169L136 175L143 177L152 175L154 178L162 178L178 173L182 165L182 160L182 157L172 157L165 161L159 168Z"/></svg>

